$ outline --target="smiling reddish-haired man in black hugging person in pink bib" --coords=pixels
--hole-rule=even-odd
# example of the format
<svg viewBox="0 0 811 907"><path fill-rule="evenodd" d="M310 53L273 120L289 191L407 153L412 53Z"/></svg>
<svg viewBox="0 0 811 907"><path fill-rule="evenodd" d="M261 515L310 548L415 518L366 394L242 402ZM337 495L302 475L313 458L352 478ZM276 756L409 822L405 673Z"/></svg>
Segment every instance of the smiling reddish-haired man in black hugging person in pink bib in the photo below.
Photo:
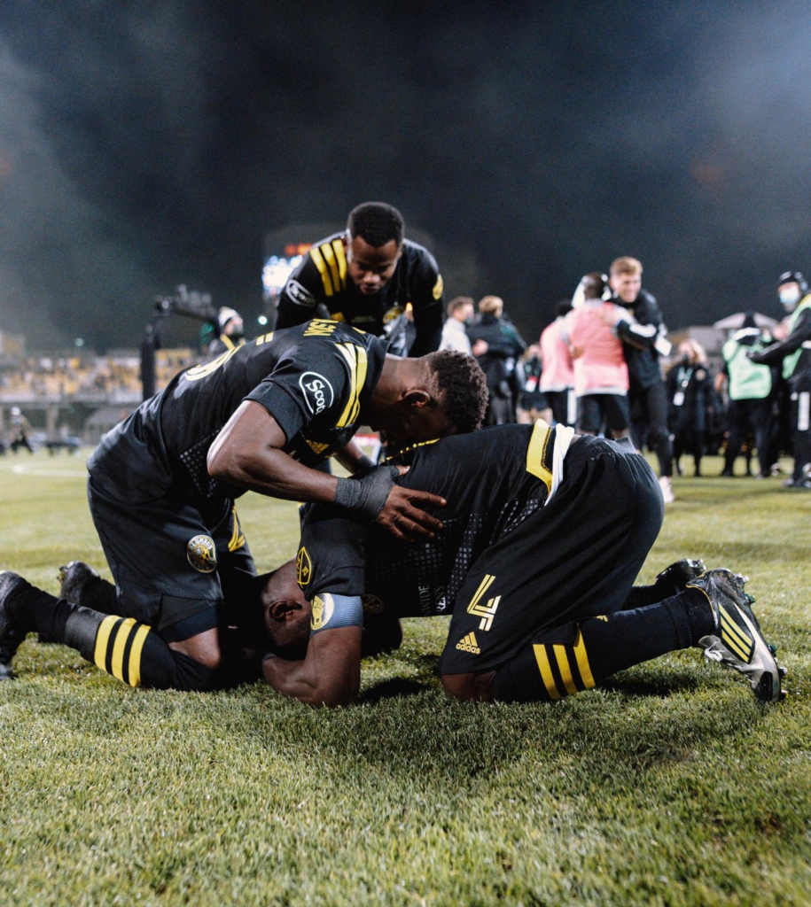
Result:
<svg viewBox="0 0 811 907"><path fill-rule="evenodd" d="M662 380L659 356L667 356L670 345L656 299L642 289L642 265L636 258L622 256L611 262L609 278L613 301L628 309L631 321L605 313L606 324L616 327L625 345L630 378L631 434L638 450L646 441L659 460L660 486L665 503L673 501L672 450L668 431L668 396Z"/></svg>

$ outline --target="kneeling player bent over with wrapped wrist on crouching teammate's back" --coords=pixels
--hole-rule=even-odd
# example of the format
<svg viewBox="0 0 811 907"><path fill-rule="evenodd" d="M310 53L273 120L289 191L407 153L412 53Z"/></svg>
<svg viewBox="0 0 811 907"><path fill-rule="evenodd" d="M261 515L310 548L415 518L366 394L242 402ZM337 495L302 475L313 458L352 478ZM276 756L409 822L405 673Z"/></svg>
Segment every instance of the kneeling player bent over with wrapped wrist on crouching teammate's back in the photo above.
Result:
<svg viewBox="0 0 811 907"><path fill-rule="evenodd" d="M240 600L256 574L234 507L240 494L334 501L401 538L442 526L420 508L443 500L397 485L390 471L338 479L312 468L333 453L350 471L371 466L351 443L361 424L394 444L481 424L486 386L472 356L399 359L386 346L353 327L311 321L181 372L88 462L90 509L117 591L108 613L128 620L54 611L53 596L6 575L0 598L9 613L41 611L42 638L90 652L132 686L220 686L218 670L230 670L224 602ZM9 633L0 676L16 649Z"/></svg>

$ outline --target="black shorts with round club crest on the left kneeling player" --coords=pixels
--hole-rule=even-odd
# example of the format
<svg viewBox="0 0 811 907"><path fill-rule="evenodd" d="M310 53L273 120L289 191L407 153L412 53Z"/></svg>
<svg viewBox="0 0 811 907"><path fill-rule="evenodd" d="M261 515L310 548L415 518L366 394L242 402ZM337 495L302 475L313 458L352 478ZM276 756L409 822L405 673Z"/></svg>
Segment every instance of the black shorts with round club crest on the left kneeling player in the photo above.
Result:
<svg viewBox="0 0 811 907"><path fill-rule="evenodd" d="M87 497L122 617L154 627L167 642L217 627L225 598L256 575L230 500L206 512L163 498L123 503L93 479Z"/></svg>

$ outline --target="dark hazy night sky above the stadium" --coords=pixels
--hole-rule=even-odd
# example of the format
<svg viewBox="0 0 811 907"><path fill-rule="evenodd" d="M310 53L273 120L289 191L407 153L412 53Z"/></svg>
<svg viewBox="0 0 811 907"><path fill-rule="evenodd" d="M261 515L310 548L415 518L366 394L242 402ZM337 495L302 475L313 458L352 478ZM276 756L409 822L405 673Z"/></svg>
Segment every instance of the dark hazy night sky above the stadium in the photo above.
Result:
<svg viewBox="0 0 811 907"><path fill-rule="evenodd" d="M622 254L671 328L778 316L809 38L800 0L4 0L0 330L137 346L181 283L255 319L266 234L365 200L527 339Z"/></svg>

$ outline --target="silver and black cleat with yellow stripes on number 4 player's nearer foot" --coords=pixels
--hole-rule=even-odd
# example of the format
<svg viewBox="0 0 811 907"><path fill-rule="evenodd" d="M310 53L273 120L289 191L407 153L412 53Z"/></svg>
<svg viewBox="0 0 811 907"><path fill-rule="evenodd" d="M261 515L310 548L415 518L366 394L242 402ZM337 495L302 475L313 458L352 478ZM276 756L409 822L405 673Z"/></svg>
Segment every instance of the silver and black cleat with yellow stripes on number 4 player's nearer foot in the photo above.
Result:
<svg viewBox="0 0 811 907"><path fill-rule="evenodd" d="M749 608L744 583L746 577L725 568L708 570L690 580L688 589L702 591L712 609L715 627L699 639L704 656L735 668L749 681L761 702L777 702L786 696L780 680L786 675L760 632L760 624Z"/></svg>

